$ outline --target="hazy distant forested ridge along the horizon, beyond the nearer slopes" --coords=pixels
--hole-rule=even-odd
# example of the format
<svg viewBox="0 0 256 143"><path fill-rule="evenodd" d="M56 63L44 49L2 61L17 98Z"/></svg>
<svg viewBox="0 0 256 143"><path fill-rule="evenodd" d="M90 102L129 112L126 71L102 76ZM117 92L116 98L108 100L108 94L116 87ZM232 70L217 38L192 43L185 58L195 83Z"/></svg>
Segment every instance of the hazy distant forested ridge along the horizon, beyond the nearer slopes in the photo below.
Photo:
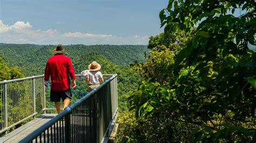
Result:
<svg viewBox="0 0 256 143"><path fill-rule="evenodd" d="M44 73L46 61L55 54L52 52L55 47L56 45L1 43L0 56L6 65L21 69L25 76L41 75ZM78 67L76 62L83 61L79 59L84 59L85 56L87 62L84 68L96 54L104 56L106 60L115 65L129 66L134 60L144 61L145 53L149 52L145 45L64 45L64 48L67 50L65 55L72 60L75 74L80 73L76 69ZM82 69L82 66L79 67L79 70Z"/></svg>

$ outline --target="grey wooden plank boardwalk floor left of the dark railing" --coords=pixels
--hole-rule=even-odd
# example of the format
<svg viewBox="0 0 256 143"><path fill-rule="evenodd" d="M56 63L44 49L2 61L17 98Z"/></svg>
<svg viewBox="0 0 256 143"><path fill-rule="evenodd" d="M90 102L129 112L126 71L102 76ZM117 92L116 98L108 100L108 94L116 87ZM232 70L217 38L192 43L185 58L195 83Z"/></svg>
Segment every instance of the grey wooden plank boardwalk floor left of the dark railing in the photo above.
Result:
<svg viewBox="0 0 256 143"><path fill-rule="evenodd" d="M10 132L4 137L0 138L0 142L19 142L28 134L35 131L38 127L45 124L47 121L57 116L57 114L44 114L36 119L31 120L29 123L22 125L16 130Z"/></svg>

